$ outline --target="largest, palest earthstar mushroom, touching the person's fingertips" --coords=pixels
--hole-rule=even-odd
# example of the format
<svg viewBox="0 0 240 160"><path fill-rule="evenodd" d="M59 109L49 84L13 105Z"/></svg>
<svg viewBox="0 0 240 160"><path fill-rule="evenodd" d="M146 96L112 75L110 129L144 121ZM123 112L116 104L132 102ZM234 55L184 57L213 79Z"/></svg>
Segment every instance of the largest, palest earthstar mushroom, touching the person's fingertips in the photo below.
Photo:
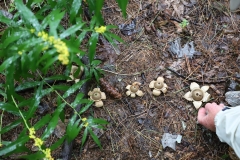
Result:
<svg viewBox="0 0 240 160"><path fill-rule="evenodd" d="M209 101L211 95L207 93L209 86L200 86L196 82L192 82L190 90L183 97L188 101L193 101L193 105L196 109L200 108L202 102Z"/></svg>

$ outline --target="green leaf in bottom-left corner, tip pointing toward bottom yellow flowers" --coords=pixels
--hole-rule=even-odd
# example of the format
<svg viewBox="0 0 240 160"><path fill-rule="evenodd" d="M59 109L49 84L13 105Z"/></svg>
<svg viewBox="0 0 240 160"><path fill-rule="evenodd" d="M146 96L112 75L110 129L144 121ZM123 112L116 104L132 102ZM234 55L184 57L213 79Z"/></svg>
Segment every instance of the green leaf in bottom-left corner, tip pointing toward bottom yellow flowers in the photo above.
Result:
<svg viewBox="0 0 240 160"><path fill-rule="evenodd" d="M29 140L28 135L19 137L16 141L11 144L1 148L0 156L4 156L14 150L17 150L19 147L24 146L24 144Z"/></svg>

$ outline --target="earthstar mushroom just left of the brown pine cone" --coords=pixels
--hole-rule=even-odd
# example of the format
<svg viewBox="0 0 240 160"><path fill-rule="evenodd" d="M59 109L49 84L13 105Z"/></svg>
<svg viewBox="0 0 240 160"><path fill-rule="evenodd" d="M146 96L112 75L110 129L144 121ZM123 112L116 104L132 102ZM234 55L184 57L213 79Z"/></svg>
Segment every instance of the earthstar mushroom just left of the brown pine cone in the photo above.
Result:
<svg viewBox="0 0 240 160"><path fill-rule="evenodd" d="M106 99L106 94L101 92L100 88L94 88L93 91L89 91L88 95L90 99L95 102L96 107L102 107L103 101L102 99Z"/></svg>

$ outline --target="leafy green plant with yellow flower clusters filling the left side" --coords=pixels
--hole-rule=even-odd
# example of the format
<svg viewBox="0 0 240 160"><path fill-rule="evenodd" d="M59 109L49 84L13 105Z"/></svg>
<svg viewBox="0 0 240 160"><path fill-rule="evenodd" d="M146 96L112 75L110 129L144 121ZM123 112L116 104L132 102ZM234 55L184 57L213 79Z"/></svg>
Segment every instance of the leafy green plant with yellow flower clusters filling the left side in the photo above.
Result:
<svg viewBox="0 0 240 160"><path fill-rule="evenodd" d="M116 0L126 17L128 0ZM96 144L101 147L93 128L103 129L107 121L89 116L83 118L82 114L92 106L93 101L84 98L79 92L72 103L66 98L79 91L89 79L97 81L102 73L97 66L101 63L94 60L99 35L104 36L113 46L114 40L123 42L120 37L110 32L117 28L113 25L104 25L101 8L104 0L69 0L69 1L35 1L28 0L26 4L22 0L14 0L13 18L8 18L0 12L0 22L6 27L0 35L0 74L5 82L0 83L1 124L0 124L0 157L6 158L15 153L21 153L22 159L53 159L52 151L57 149L64 141L72 141L83 131L82 145L90 135ZM89 8L91 13L90 23L82 18L83 5ZM62 19L69 16L69 20ZM87 53L79 49L81 42L88 39ZM89 64L83 64L81 58L88 56ZM49 81L69 80L69 72L72 64L83 67L85 78L69 86L67 84L53 84ZM56 68L65 66L66 72L58 75ZM48 77L49 73L52 75ZM31 79L31 80L30 80ZM15 85L17 82L17 86ZM34 88L32 97L23 97L19 92ZM59 91L62 91L60 94ZM57 95L57 107L50 114L37 118L37 108L41 99L50 93ZM82 105L80 110L77 106ZM69 119L65 135L46 147L45 142L53 133L58 121L64 120L64 108L71 107L73 116ZM2 117L7 113L15 116L15 119L2 126ZM35 124L32 119L39 119ZM23 126L18 138L13 141L2 139L1 135L10 134L17 126ZM42 134L37 134L38 130ZM26 147L26 143L33 143L38 151L32 151ZM15 154L16 155L16 154Z"/></svg>

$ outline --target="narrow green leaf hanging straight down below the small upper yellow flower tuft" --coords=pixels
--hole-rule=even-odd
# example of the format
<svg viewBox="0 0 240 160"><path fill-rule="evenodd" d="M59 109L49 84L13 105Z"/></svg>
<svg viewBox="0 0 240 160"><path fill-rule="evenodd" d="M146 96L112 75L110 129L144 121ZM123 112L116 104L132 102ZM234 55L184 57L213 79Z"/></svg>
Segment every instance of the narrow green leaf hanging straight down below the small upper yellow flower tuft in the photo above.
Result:
<svg viewBox="0 0 240 160"><path fill-rule="evenodd" d="M97 32L93 32L91 35L91 38L89 39L89 61L92 63L95 54L96 54L96 46L97 46L97 41L98 41L98 36L99 34Z"/></svg>

